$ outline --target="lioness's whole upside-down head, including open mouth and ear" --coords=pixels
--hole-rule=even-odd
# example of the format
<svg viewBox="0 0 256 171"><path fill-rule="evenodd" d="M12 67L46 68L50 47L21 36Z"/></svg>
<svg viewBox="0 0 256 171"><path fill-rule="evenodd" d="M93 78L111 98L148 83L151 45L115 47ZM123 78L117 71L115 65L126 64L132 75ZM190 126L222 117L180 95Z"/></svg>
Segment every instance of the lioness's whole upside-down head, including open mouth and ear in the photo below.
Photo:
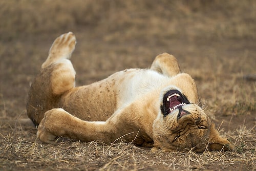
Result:
<svg viewBox="0 0 256 171"><path fill-rule="evenodd" d="M162 92L161 107L153 124L154 146L165 151L193 149L195 152L232 149L219 136L205 111L177 88Z"/></svg>

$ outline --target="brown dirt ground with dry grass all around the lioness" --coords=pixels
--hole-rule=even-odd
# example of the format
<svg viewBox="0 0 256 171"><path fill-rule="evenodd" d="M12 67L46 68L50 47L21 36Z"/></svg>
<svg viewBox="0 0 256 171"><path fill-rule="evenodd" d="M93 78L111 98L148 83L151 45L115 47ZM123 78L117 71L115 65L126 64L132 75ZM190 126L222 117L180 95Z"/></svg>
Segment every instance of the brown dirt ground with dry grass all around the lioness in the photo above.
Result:
<svg viewBox="0 0 256 171"><path fill-rule="evenodd" d="M0 170L255 170L255 8L249 0L0 2ZM175 55L234 151L36 140L35 127L19 119L52 41L68 31L78 41L71 59L78 85L147 68L163 52Z"/></svg>

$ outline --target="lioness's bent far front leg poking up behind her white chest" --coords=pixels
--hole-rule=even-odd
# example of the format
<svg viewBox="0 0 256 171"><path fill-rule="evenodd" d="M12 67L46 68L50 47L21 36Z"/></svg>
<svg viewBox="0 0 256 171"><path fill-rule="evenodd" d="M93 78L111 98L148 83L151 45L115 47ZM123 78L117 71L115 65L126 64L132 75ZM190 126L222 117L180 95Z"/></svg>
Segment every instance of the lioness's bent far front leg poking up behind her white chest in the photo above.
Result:
<svg viewBox="0 0 256 171"><path fill-rule="evenodd" d="M180 73L180 67L176 57L168 53L158 55L153 61L150 69L168 77L172 77Z"/></svg>

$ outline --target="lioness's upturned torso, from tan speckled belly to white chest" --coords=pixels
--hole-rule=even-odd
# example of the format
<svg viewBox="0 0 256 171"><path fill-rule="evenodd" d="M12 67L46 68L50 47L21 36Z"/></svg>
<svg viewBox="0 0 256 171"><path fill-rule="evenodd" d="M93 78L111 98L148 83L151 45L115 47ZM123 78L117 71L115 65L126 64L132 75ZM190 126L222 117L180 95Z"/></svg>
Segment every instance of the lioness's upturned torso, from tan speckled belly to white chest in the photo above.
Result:
<svg viewBox="0 0 256 171"><path fill-rule="evenodd" d="M105 121L117 109L143 99L148 93L159 98L166 80L168 78L151 70L120 71L104 80L70 90L62 96L58 108L82 120Z"/></svg>

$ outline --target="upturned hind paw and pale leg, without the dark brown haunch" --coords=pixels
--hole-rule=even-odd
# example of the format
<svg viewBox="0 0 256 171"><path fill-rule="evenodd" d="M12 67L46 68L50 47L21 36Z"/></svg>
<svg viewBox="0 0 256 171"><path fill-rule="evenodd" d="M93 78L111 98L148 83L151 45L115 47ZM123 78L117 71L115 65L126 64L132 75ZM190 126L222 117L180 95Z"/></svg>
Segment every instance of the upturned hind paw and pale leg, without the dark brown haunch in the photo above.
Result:
<svg viewBox="0 0 256 171"><path fill-rule="evenodd" d="M53 68L50 79L54 95L60 95L74 87L76 73L69 58L75 45L76 37L72 32L60 35L54 40L49 56L42 64L42 69Z"/></svg>

